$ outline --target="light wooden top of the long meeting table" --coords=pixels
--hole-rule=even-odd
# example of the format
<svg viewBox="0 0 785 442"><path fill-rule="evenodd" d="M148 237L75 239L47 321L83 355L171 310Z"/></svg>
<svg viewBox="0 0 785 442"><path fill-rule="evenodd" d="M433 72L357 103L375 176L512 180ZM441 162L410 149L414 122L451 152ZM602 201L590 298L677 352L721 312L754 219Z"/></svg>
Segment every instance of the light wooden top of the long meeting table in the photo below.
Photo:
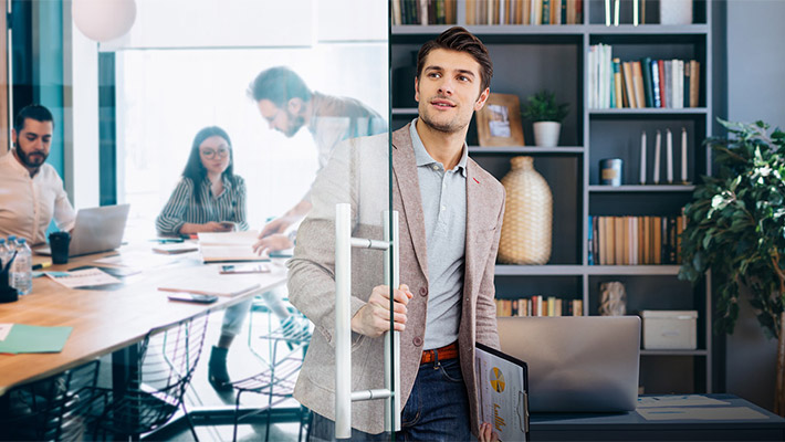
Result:
<svg viewBox="0 0 785 442"><path fill-rule="evenodd" d="M71 259L67 264L53 265L45 271L65 271L91 265L95 260L114 255L137 259L149 253L156 256L151 244L123 246L118 251ZM265 292L286 280L283 261L274 261L270 273L220 275L214 265L203 265L198 254L171 255L172 263L142 270L128 276L116 290L70 290L41 276L33 280L29 295L18 302L0 304L0 323L39 326L72 326L73 330L59 354L0 354L0 396L9 389L43 379L77 367L96 357L140 341L154 328L171 326L211 311L219 311L247 296ZM33 262L48 257L34 256ZM158 287L166 282L189 277L216 277L227 281L243 280L260 284L260 288L240 297L220 297L213 304L174 302Z"/></svg>

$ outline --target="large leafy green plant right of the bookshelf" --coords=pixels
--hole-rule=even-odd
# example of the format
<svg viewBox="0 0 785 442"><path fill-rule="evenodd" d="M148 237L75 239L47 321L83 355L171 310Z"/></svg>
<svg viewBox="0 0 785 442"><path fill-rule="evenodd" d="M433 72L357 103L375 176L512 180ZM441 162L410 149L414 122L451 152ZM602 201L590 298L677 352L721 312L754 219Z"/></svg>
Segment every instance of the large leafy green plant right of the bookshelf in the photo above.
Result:
<svg viewBox="0 0 785 442"><path fill-rule="evenodd" d="M732 334L742 293L768 338L779 339L774 412L785 414L785 133L763 122L720 120L729 137L709 138L719 166L685 207L679 277L706 270L716 285L715 333ZM743 290L742 290L743 288Z"/></svg>

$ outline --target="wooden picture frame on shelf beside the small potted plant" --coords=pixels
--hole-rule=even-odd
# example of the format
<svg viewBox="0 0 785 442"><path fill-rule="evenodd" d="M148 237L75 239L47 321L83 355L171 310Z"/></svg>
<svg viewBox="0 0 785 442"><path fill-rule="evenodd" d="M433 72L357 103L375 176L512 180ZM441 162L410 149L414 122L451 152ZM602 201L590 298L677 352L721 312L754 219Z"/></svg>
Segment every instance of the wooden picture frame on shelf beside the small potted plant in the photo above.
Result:
<svg viewBox="0 0 785 442"><path fill-rule="evenodd" d="M491 94L477 113L480 146L525 146L517 95Z"/></svg>

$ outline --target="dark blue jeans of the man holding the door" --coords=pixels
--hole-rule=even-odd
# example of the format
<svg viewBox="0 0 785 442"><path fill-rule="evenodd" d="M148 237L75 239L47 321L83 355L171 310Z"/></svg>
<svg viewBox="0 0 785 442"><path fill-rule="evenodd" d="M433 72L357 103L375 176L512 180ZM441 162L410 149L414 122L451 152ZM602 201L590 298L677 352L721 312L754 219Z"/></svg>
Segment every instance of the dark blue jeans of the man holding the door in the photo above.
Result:
<svg viewBox="0 0 785 442"><path fill-rule="evenodd" d="M384 417L379 417L384 419ZM474 441L460 361L422 364L401 412L396 441ZM314 413L308 441L333 441L335 423ZM388 441L389 434L352 430L353 441Z"/></svg>

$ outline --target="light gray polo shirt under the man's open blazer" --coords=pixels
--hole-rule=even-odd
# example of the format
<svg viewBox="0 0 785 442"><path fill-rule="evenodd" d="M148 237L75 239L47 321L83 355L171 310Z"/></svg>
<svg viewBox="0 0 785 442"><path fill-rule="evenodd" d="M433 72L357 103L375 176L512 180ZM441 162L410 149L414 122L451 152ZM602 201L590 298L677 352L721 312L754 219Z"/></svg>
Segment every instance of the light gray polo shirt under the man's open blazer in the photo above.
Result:
<svg viewBox="0 0 785 442"><path fill-rule="evenodd" d="M463 265L467 238L468 149L452 170L444 170L426 150L411 122L417 175L422 197L428 243L428 314L423 349L458 340L463 298Z"/></svg>

